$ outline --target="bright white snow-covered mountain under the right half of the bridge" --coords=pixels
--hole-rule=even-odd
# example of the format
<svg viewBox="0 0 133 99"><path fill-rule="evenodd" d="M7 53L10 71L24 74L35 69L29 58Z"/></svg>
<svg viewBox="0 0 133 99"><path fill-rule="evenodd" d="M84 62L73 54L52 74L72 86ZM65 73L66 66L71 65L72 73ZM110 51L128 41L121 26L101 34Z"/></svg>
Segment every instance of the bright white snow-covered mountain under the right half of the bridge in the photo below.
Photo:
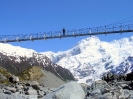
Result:
<svg viewBox="0 0 133 99"><path fill-rule="evenodd" d="M129 57L133 56L133 36L112 42L104 42L97 37L90 37L79 41L67 51L43 52L43 54L54 63L69 69L78 82L89 84L110 70L116 73L132 71L133 61L128 62L129 65L125 65L126 63L123 62L129 61ZM127 68L126 72L120 69L122 67L123 69Z"/></svg>

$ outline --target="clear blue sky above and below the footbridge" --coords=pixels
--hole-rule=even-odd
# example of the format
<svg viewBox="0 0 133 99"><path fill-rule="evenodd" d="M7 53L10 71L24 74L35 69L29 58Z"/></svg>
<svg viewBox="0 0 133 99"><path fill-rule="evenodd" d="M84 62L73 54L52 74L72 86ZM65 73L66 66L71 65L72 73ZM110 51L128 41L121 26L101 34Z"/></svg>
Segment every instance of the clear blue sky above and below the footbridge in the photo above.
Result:
<svg viewBox="0 0 133 99"><path fill-rule="evenodd" d="M133 0L0 0L0 35L98 27L131 16ZM112 41L130 36L132 33L98 37ZM84 38L87 36L10 44L38 52L57 52L70 49Z"/></svg>

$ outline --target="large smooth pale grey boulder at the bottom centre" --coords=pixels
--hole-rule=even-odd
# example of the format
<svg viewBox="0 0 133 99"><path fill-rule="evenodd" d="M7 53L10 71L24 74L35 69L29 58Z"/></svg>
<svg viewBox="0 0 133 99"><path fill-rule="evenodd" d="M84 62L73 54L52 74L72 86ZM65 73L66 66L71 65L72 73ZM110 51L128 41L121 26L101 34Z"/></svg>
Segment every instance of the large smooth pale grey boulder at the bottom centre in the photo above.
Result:
<svg viewBox="0 0 133 99"><path fill-rule="evenodd" d="M67 83L41 99L84 99L85 93L76 82Z"/></svg>

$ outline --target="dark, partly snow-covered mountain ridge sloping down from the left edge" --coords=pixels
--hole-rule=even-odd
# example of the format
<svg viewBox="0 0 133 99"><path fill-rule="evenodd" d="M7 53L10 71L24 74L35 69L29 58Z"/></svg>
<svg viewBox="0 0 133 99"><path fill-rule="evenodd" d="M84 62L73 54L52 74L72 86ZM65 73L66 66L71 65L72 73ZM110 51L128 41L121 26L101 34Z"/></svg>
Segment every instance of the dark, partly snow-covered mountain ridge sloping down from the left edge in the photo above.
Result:
<svg viewBox="0 0 133 99"><path fill-rule="evenodd" d="M32 66L41 66L62 80L74 80L68 69L53 63L47 56L32 49L0 43L0 67L12 74L18 74Z"/></svg>

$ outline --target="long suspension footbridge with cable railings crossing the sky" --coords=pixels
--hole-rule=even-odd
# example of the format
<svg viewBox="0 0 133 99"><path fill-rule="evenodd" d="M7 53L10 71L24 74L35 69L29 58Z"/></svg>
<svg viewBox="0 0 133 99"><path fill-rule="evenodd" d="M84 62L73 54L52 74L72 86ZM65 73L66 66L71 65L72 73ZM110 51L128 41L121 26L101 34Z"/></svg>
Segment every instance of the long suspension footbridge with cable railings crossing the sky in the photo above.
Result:
<svg viewBox="0 0 133 99"><path fill-rule="evenodd" d="M133 18L133 16L130 18ZM103 35L103 34L107 35L107 34L118 34L118 33L119 34L132 33L133 24L129 24L132 22L132 20L129 21L127 19L109 25L93 27L93 28L82 28L82 29L19 34L19 35L0 35L0 43L34 41L34 40L43 40L43 39L48 40L55 38L61 39L67 37L93 36L93 35Z"/></svg>

